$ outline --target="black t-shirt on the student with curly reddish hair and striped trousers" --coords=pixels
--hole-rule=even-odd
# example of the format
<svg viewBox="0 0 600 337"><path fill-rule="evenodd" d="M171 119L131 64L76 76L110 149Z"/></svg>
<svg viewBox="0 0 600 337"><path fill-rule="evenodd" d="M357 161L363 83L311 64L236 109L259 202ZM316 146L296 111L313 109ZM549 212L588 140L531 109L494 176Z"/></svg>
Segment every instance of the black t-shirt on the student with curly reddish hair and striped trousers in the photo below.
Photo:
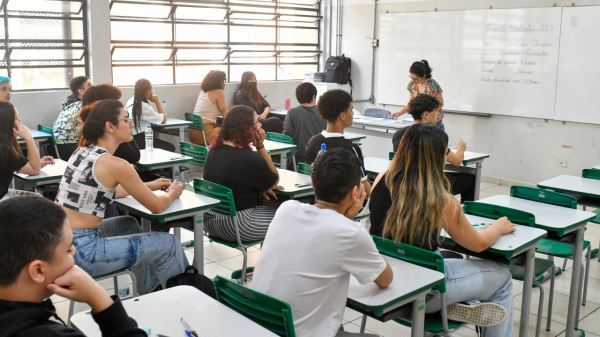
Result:
<svg viewBox="0 0 600 337"><path fill-rule="evenodd" d="M258 153L228 145L211 148L204 164L204 179L229 187L237 211L257 206L260 194L277 178Z"/></svg>

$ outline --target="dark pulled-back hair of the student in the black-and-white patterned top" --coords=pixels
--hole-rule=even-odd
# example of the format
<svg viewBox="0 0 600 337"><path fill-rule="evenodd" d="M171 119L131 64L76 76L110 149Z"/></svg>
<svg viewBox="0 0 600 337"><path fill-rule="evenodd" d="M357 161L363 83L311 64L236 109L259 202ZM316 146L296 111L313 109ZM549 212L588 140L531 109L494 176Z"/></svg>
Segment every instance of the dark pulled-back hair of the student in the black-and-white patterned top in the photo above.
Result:
<svg viewBox="0 0 600 337"><path fill-rule="evenodd" d="M81 109L80 116L85 116L83 118L85 123L81 129L78 147L89 146L102 138L106 132L106 122L117 125L123 108L121 101L112 99L105 99L84 106Z"/></svg>

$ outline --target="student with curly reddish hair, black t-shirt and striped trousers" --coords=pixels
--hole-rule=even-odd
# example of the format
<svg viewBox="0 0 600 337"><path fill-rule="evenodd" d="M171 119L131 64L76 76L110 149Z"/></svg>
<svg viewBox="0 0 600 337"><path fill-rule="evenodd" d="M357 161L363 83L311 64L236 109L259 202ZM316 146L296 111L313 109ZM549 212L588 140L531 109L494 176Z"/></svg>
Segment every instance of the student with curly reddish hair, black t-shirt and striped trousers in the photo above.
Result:
<svg viewBox="0 0 600 337"><path fill-rule="evenodd" d="M265 131L254 109L236 105L227 113L219 135L211 144L204 164L204 179L228 187L233 192L242 241L262 240L279 206L275 189L279 173L265 150ZM250 143L254 143L256 152ZM262 195L262 197L261 197ZM210 235L236 241L233 219L213 213L206 221Z"/></svg>

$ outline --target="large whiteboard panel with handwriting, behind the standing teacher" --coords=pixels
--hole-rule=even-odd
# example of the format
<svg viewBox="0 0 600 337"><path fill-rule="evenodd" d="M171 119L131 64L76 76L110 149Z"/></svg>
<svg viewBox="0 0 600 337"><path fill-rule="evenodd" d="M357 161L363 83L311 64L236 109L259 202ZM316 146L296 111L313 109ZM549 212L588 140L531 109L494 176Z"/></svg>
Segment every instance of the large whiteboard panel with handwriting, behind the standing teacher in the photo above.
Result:
<svg viewBox="0 0 600 337"><path fill-rule="evenodd" d="M444 109L551 119L560 23L560 7L382 14L378 101L405 105L426 59Z"/></svg>

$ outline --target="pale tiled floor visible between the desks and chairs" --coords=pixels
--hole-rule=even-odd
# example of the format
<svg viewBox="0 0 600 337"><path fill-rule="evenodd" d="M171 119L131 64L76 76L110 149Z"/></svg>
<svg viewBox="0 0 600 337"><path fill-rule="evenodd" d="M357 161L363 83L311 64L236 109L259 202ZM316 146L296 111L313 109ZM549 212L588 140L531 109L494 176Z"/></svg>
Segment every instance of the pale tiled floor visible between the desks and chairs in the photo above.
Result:
<svg viewBox="0 0 600 337"><path fill-rule="evenodd" d="M191 176L198 176L198 172L192 172ZM497 194L509 194L509 188L506 186L495 185L491 183L482 182L481 184L481 198L487 198ZM182 230L182 240L190 240L193 238L192 232ZM598 242L600 240L600 226L596 224L589 224L585 234L585 239L591 241L592 248L598 248ZM193 258L193 249L186 248L186 255L191 261ZM251 248L248 254L249 265L254 265L258 254L260 253L258 248ZM543 257L543 256L541 256ZM556 263L562 266L562 259L556 259ZM204 243L204 270L206 276L214 278L216 275L224 277L231 277L231 272L236 269L240 269L242 266L242 255L239 251L231 249L216 243L208 242L205 239ZM542 337L550 336L564 336L566 315L567 315L567 301L569 296L569 284L571 279L570 268L572 262L569 261L567 271L556 279L554 305L552 310L552 327L551 331L546 331L546 317L547 317L547 298L544 303L544 314L543 317L543 328L541 330ZM107 291L112 294L113 282L111 280L103 281L103 286ZM252 280L248 282L248 286L252 286ZM549 289L550 284L544 283L544 289ZM513 336L517 336L519 329L519 319L521 315L521 296L522 296L522 282L513 281L514 289L514 323L513 323ZM546 292L547 293L547 292ZM588 286L588 302L585 307L581 308L581 320L579 328L585 330L586 336L588 337L600 337L600 262L597 259L591 261L590 266L590 280ZM537 320L537 308L539 301L539 291L534 289L532 292L531 299L531 314L529 317L529 335L535 334L535 322ZM56 305L58 315L66 321L69 301L64 298L54 296L53 302ZM77 304L75 306L75 312L86 310L88 307L83 304ZM361 322L361 315L350 309L346 309L344 313L344 329L346 331L358 332ZM410 336L410 330L397 324L395 322L381 323L373 319L367 320L368 332L380 335L380 336ZM454 333L455 336L475 337L476 333L472 326L466 326Z"/></svg>

